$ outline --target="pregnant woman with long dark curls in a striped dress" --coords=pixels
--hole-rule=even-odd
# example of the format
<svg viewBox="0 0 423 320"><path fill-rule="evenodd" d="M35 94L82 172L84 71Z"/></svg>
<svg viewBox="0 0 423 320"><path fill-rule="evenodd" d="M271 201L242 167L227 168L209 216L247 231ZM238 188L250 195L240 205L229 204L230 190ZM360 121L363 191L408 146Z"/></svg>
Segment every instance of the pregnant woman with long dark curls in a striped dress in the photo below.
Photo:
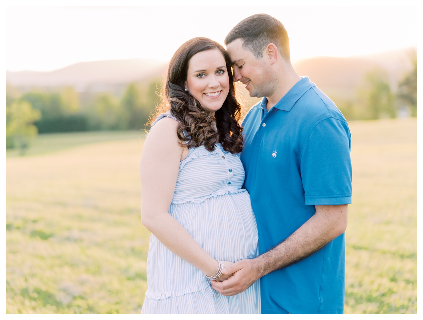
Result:
<svg viewBox="0 0 423 320"><path fill-rule="evenodd" d="M162 98L141 156L142 222L151 231L141 313L259 314L259 282L228 297L210 284L258 254L228 53L208 38L184 43Z"/></svg>

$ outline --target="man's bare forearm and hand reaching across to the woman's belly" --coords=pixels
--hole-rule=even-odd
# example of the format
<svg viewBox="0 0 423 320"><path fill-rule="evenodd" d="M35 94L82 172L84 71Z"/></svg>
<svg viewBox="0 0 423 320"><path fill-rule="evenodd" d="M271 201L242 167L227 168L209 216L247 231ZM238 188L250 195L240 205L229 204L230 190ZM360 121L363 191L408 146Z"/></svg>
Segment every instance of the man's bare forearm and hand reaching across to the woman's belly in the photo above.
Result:
<svg viewBox="0 0 423 320"><path fill-rule="evenodd" d="M211 287L223 295L243 292L262 276L308 257L341 235L347 215L348 205L316 205L316 213L285 241L252 260L225 268L223 274L233 276L223 282L211 281Z"/></svg>

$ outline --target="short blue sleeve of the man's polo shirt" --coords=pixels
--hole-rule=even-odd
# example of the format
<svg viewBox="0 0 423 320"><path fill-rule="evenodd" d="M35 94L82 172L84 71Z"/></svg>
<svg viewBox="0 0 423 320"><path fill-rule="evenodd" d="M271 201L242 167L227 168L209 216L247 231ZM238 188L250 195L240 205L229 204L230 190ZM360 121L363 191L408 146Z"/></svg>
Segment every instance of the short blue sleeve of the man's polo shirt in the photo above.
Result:
<svg viewBox="0 0 423 320"><path fill-rule="evenodd" d="M312 129L301 156L305 205L351 203L350 147L351 134L346 122L328 118Z"/></svg>

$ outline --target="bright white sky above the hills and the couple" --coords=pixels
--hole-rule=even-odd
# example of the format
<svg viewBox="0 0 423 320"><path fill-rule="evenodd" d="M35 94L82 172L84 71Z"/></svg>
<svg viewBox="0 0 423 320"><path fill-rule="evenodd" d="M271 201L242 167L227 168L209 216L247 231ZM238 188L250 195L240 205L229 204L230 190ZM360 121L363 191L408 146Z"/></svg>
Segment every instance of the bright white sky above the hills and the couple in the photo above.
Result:
<svg viewBox="0 0 423 320"><path fill-rule="evenodd" d="M196 36L223 44L236 23L256 13L283 23L293 62L320 55L366 55L417 46L420 19L410 6L3 8L9 71L50 71L109 59L167 61Z"/></svg>

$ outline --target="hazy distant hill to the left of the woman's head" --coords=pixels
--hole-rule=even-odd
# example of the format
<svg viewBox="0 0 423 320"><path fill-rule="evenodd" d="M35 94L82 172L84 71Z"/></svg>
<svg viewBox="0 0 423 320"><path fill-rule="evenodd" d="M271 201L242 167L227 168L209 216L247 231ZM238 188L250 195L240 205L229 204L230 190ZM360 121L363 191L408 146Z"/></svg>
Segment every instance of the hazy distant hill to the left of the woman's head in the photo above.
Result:
<svg viewBox="0 0 423 320"><path fill-rule="evenodd" d="M77 91L89 87L107 90L120 85L160 76L168 63L154 59L105 60L75 63L50 72L6 71L6 83L15 87L72 86Z"/></svg>

